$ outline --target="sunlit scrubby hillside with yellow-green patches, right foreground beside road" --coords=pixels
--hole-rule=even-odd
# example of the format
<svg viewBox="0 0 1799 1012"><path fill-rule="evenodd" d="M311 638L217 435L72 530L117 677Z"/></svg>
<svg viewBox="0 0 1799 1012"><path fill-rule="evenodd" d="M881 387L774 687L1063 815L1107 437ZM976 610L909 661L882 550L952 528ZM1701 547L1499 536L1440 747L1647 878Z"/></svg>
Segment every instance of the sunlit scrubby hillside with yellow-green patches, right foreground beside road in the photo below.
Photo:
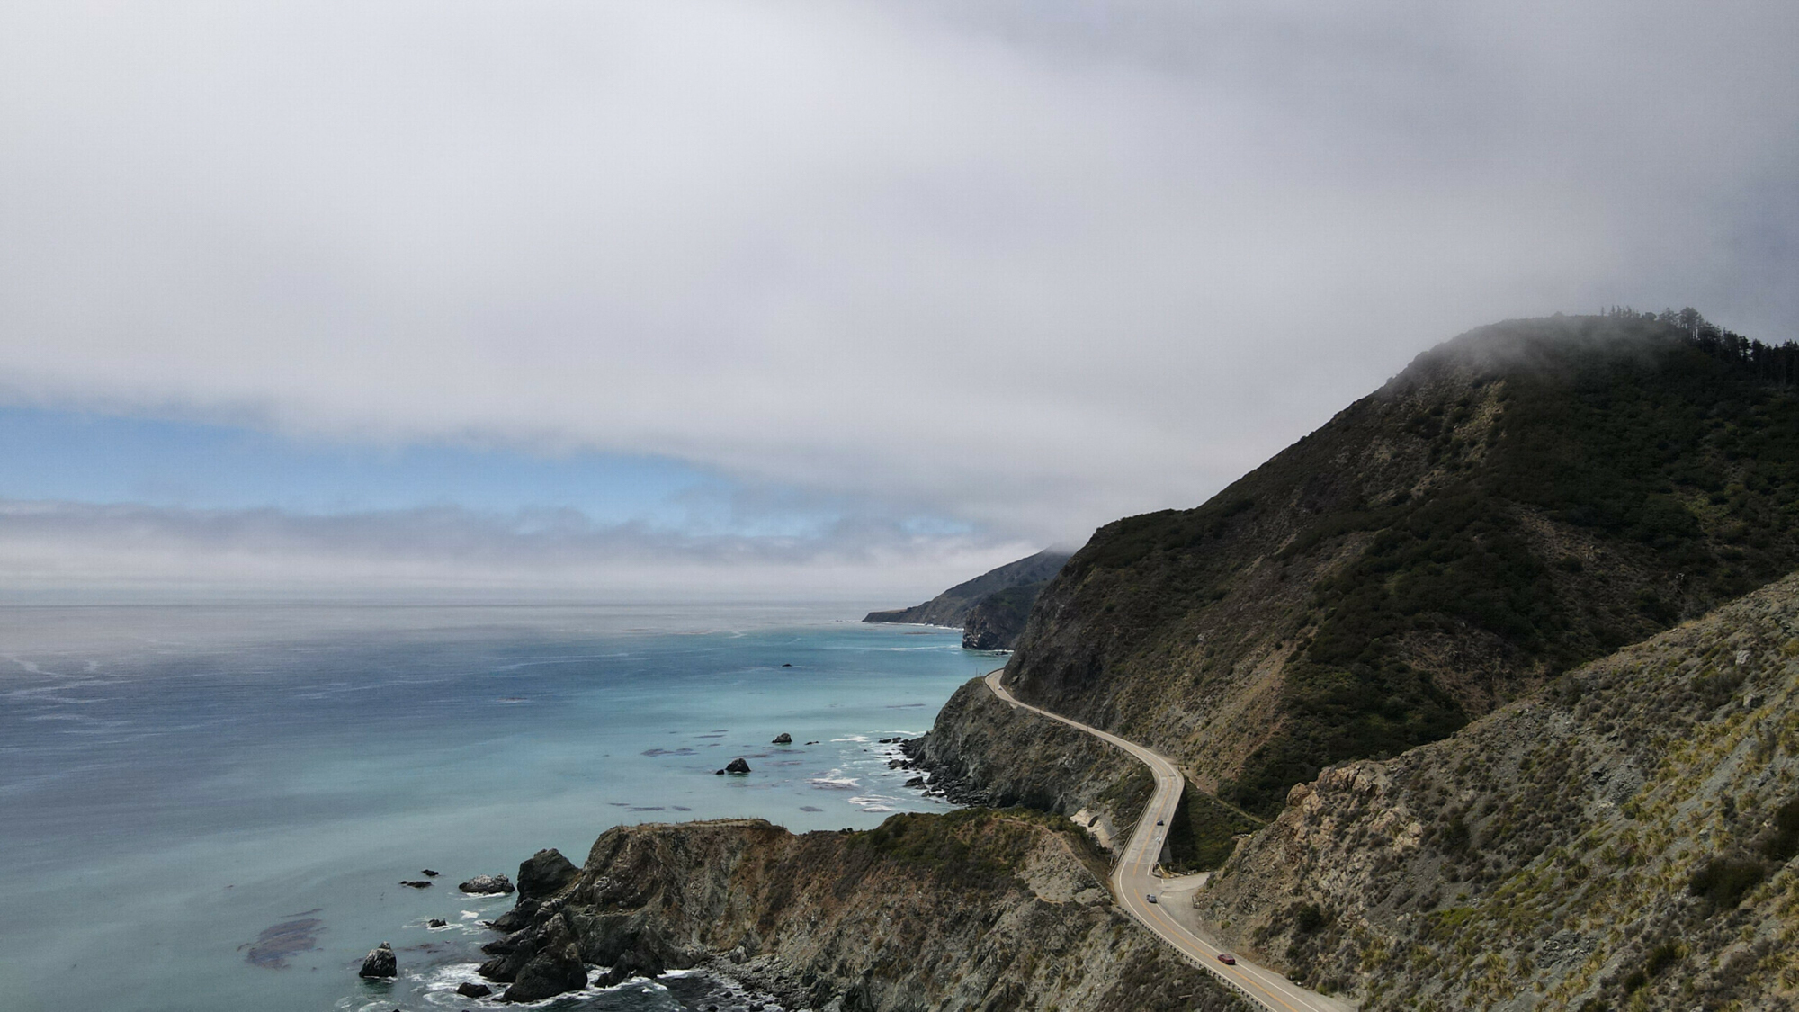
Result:
<svg viewBox="0 0 1799 1012"><path fill-rule="evenodd" d="M1198 906L1385 1008L1794 1008L1799 578L1295 787Z"/></svg>

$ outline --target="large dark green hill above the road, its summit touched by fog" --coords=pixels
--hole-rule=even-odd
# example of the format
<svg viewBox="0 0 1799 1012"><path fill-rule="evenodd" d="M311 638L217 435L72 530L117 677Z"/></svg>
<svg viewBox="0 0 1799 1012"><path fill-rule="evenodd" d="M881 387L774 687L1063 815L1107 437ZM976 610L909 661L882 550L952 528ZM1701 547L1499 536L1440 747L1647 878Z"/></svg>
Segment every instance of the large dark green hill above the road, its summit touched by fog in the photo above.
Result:
<svg viewBox="0 0 1799 1012"><path fill-rule="evenodd" d="M1207 504L1101 528L1007 684L1272 814L1329 764L1439 740L1794 569L1790 357L1700 335L1556 317L1419 355Z"/></svg>

